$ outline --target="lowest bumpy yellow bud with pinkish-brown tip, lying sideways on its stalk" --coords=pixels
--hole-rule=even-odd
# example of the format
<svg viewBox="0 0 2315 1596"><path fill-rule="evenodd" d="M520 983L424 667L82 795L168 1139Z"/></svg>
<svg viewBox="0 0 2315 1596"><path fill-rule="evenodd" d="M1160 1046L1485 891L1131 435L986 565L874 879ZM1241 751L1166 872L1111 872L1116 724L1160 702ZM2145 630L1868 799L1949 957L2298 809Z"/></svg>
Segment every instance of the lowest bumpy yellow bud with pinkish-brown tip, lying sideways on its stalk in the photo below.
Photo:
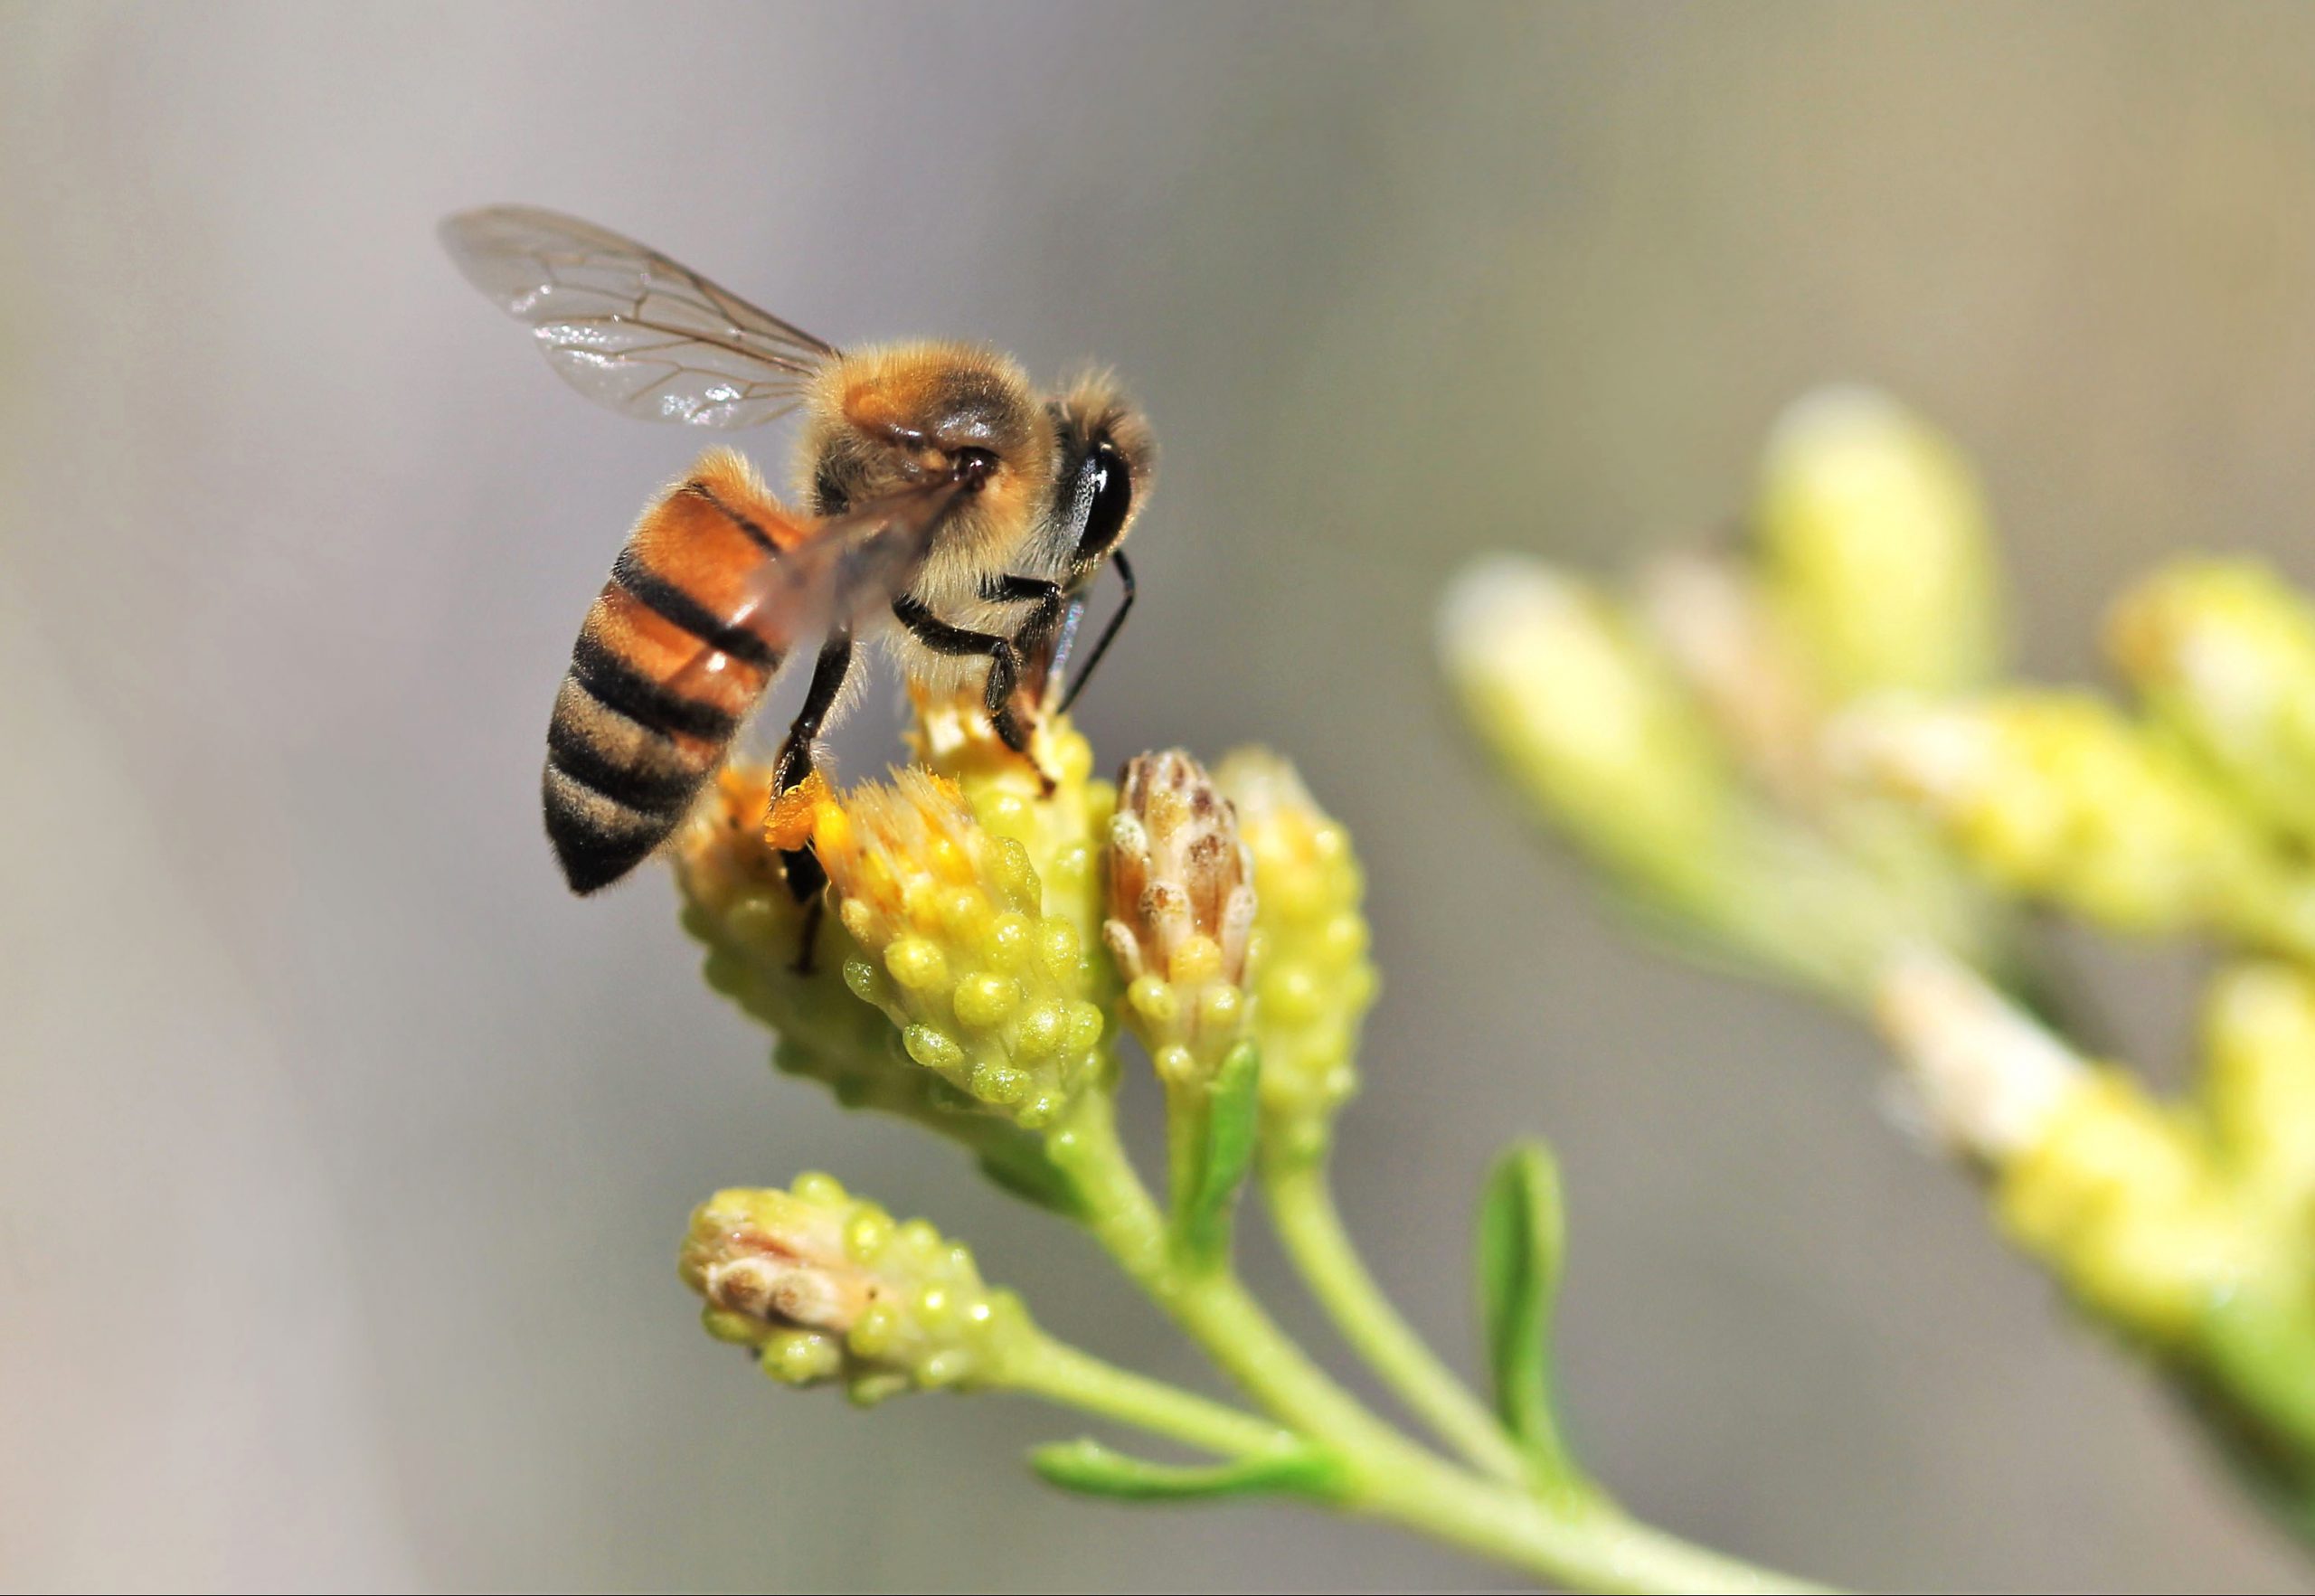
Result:
<svg viewBox="0 0 2315 1596"><path fill-rule="evenodd" d="M843 1381L854 1401L1000 1383L1035 1341L1019 1300L972 1253L894 1218L826 1174L789 1191L720 1191L692 1214L683 1281L720 1341L789 1385Z"/></svg>

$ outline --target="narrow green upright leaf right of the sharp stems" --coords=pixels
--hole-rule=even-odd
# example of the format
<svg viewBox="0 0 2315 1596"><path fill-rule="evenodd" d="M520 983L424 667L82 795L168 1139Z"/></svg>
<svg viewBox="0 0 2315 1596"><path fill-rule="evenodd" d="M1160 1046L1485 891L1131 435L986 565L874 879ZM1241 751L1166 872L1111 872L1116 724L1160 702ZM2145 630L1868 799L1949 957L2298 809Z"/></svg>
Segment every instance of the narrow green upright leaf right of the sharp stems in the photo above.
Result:
<svg viewBox="0 0 2315 1596"><path fill-rule="evenodd" d="M1551 1302L1563 1251L1558 1165L1542 1142L1514 1142L1479 1195L1479 1325L1502 1427L1546 1466L1560 1462L1551 1420Z"/></svg>

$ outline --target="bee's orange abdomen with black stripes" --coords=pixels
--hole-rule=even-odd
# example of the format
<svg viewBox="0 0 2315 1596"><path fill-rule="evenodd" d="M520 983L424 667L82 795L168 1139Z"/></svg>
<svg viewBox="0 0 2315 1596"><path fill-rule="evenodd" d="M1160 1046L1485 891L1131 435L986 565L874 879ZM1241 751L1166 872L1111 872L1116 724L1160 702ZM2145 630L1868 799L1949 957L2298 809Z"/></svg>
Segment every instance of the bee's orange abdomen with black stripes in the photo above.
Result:
<svg viewBox="0 0 2315 1596"><path fill-rule="evenodd" d="M637 521L588 609L546 725L546 836L572 892L632 871L676 829L780 665L734 625L799 537L729 449Z"/></svg>

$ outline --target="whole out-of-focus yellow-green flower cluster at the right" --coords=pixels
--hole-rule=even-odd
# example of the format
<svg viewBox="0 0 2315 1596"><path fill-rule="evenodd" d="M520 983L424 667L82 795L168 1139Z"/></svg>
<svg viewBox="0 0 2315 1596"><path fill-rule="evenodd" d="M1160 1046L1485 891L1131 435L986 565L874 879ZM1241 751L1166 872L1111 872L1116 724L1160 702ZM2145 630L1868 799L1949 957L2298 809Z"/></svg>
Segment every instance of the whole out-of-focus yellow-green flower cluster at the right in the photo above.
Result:
<svg viewBox="0 0 2315 1596"><path fill-rule="evenodd" d="M1778 424L1746 528L1634 609L1468 572L1442 651L1475 730L1658 924L1868 1001L2009 1237L2315 1522L2315 605L2181 561L2107 632L2144 713L1996 688L1977 484L1864 391ZM2002 996L2060 1008L2019 901L2257 959L2211 987L2188 1100Z"/></svg>

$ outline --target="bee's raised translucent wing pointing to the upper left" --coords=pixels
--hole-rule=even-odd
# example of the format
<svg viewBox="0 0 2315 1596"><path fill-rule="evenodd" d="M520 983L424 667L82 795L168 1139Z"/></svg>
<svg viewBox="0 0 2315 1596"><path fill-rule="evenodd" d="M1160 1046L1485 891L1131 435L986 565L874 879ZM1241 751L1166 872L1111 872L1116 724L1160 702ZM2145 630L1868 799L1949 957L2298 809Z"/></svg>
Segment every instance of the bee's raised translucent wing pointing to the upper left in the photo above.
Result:
<svg viewBox="0 0 2315 1596"><path fill-rule="evenodd" d="M461 211L442 222L442 246L468 283L530 324L565 382L651 422L771 422L836 357L657 250L556 211Z"/></svg>

